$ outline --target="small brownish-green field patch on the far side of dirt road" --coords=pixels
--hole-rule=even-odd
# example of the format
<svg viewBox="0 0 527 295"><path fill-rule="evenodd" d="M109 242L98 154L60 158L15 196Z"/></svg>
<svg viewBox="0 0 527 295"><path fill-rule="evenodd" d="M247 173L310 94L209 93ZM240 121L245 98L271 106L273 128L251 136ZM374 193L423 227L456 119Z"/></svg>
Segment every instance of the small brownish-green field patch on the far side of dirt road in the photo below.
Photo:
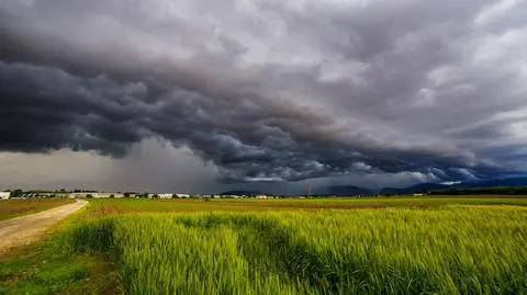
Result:
<svg viewBox="0 0 527 295"><path fill-rule="evenodd" d="M0 200L0 220L74 203L71 198Z"/></svg>

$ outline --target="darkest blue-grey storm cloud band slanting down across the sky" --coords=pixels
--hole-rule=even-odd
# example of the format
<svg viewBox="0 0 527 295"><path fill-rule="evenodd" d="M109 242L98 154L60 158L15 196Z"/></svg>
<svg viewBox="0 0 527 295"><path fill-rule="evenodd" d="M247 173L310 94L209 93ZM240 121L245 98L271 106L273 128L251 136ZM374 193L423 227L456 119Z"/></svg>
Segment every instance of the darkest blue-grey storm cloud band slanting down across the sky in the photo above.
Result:
<svg viewBox="0 0 527 295"><path fill-rule="evenodd" d="M470 155L396 148L337 129L332 118L282 102L214 98L173 88L150 95L146 83L79 78L59 69L0 64L2 150L70 147L121 157L143 138L188 145L226 180L300 180L346 173L357 162L397 172L467 166ZM155 87L154 87L155 88Z"/></svg>

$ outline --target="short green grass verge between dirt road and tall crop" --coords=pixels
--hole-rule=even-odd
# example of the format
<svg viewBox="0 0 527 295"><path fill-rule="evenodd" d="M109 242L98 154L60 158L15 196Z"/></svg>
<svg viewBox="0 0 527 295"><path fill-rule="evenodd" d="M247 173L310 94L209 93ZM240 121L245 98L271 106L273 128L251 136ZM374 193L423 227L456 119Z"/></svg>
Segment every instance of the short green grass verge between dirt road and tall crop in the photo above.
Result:
<svg viewBox="0 0 527 295"><path fill-rule="evenodd" d="M0 257L0 294L122 294L106 257L65 249L64 231L82 219L82 211L51 229L44 240Z"/></svg>

